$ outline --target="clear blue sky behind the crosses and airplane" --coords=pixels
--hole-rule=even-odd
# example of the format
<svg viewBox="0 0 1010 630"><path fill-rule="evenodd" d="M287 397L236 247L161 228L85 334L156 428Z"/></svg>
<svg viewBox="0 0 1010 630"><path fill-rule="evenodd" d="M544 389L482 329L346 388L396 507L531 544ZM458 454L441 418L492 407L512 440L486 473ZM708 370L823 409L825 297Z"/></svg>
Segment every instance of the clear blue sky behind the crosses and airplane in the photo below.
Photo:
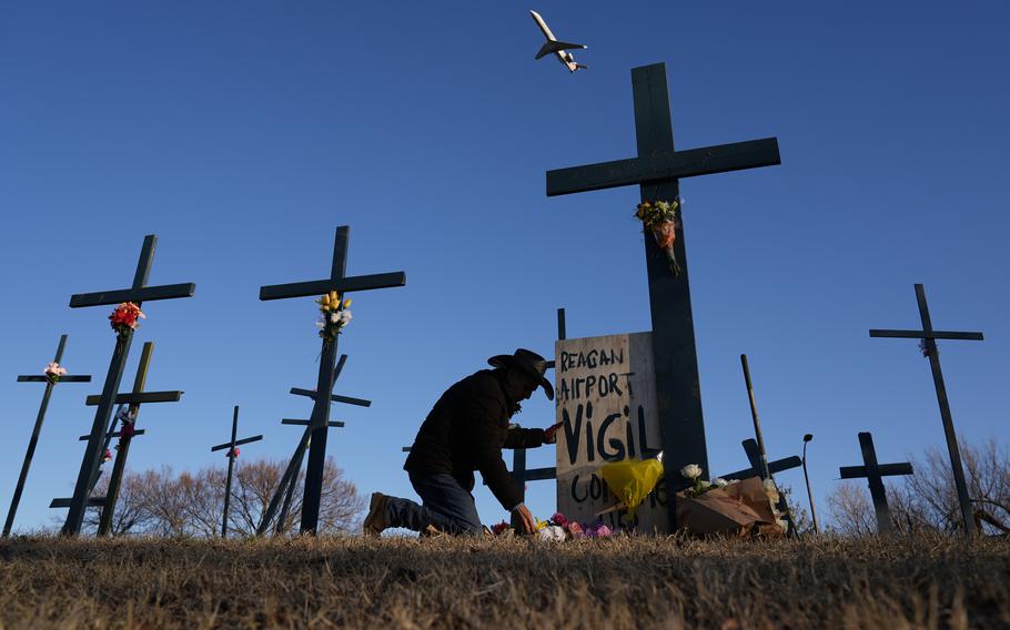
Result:
<svg viewBox="0 0 1010 630"><path fill-rule="evenodd" d="M537 9L589 44L588 72L533 60ZM649 328L636 187L547 199L549 169L635 153L630 69L665 62L677 146L775 135L782 165L681 182L709 460L745 465L751 434L738 355L750 356L769 455L815 434L824 497L859 463L942 430L913 341L913 283L941 345L959 430L1006 439L1010 254L1006 148L1010 9L1003 2L34 2L0 6L0 397L6 514L61 333L90 386L57 388L18 524L47 525L80 466L113 334L73 293L127 286L144 234L151 284L192 299L145 305L124 377L154 341L132 468L224 466L211 445L263 433L286 458L314 387L310 298L259 286L326 274L352 226L349 272L403 270L404 288L355 295L331 454L367 495L413 496L401 446L442 390L494 354L549 354L569 336ZM543 397L518 417L546 426ZM552 454L531 454L548 465ZM781 476L802 484L801 472ZM504 514L478 484L485 522ZM535 512L554 508L531 485ZM62 515L62 510L59 512Z"/></svg>

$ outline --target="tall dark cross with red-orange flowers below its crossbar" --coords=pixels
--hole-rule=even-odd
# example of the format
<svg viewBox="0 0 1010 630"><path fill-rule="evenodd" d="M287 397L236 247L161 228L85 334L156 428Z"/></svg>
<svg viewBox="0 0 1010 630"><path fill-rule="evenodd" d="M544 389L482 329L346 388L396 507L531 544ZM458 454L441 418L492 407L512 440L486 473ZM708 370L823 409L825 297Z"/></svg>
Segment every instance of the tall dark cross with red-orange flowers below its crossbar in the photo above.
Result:
<svg viewBox="0 0 1010 630"><path fill-rule="evenodd" d="M192 297L196 292L196 285L193 283L147 286L148 277L151 275L151 264L154 262L154 246L156 243L158 236L154 234L144 236L144 244L140 251L140 260L137 263L137 272L133 274L133 284L130 288L77 294L70 297L70 307L105 306L122 302L132 302L140 306L144 302L153 302L155 299ZM101 464L105 427L109 426L112 406L117 398L117 392L119 392L132 342L132 329L128 331L125 335L117 335L115 348L112 350L109 372L105 374L105 384L97 400L98 408L95 409L94 421L91 425L91 433L88 437L88 447L84 450L78 480L73 487L70 511L67 515L67 522L63 524L62 534L64 535L75 536L81 531L88 495L90 495L91 488L94 487L94 480Z"/></svg>

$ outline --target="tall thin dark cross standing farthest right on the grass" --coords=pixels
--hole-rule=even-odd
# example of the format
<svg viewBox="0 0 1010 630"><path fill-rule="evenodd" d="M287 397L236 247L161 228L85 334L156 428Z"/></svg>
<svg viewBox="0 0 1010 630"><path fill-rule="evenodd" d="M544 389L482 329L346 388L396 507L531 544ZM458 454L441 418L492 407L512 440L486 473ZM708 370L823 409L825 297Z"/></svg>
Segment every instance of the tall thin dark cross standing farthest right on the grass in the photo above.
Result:
<svg viewBox="0 0 1010 630"><path fill-rule="evenodd" d="M947 450L950 454L950 466L953 469L953 482L958 490L958 502L961 507L964 536L971 538L974 535L974 516L971 509L971 498L968 496L968 485L964 482L964 468L961 466L961 451L958 448L958 436L953 430L953 418L950 415L947 387L943 385L943 373L940 372L940 353L937 349L937 339L967 339L981 342L982 334L933 331L932 321L929 318L929 306L926 304L926 289L921 284L916 285L916 301L919 303L919 317L922 319L921 331L871 329L870 336L922 339L922 354L929 358L929 367L932 370L932 382L937 388L937 402L940 404L940 417L943 419L943 435L947 436Z"/></svg>

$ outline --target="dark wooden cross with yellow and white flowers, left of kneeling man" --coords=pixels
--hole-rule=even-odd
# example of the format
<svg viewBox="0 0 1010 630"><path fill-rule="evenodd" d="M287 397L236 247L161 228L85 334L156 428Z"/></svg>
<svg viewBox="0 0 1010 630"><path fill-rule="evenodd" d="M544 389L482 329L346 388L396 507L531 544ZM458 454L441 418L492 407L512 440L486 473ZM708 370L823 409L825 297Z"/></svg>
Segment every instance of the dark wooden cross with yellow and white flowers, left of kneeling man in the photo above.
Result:
<svg viewBox="0 0 1010 630"><path fill-rule="evenodd" d="M341 294L354 291L368 291L375 288L390 288L404 286L406 274L393 272L385 274L362 275L347 277L347 244L351 240L351 228L342 225L336 228L336 240L333 244L333 264L330 277L325 280L279 284L260 287L260 299L284 299L290 297L306 297L323 295L331 291ZM323 465L326 460L326 435L330 421L330 399L333 392L333 367L336 363L336 339L323 337L323 349L320 354L319 382L315 390L325 393L315 397L312 408L311 447L309 449L309 464L305 470L305 491L302 499L302 534L315 534L319 526L320 500L323 491Z"/></svg>

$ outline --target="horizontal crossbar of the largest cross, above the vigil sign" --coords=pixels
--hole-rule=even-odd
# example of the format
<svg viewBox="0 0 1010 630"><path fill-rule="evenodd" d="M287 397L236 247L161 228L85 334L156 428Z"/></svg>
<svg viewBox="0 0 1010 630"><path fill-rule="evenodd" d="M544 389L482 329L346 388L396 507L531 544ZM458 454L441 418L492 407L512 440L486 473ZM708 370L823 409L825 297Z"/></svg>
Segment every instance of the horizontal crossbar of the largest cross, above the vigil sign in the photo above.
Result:
<svg viewBox="0 0 1010 630"><path fill-rule="evenodd" d="M727 173L781 163L778 140L775 138L687 151L660 151L627 160L547 171L547 196Z"/></svg>

